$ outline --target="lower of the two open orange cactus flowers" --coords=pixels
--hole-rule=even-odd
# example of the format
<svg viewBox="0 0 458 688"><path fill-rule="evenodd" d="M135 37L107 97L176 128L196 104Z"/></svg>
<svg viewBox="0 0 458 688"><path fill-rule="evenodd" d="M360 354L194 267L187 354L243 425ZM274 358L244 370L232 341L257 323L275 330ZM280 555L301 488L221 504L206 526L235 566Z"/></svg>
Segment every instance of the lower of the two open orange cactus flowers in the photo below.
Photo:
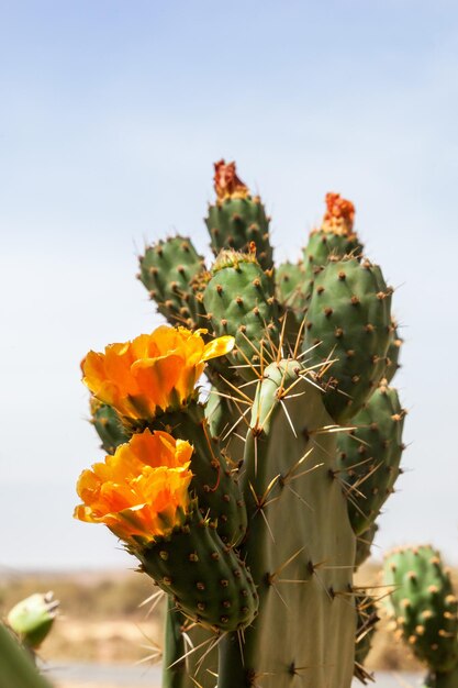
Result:
<svg viewBox="0 0 458 688"><path fill-rule="evenodd" d="M192 446L145 430L78 479L74 517L104 523L121 540L150 542L182 522L189 507ZM134 541L132 541L134 539Z"/></svg>

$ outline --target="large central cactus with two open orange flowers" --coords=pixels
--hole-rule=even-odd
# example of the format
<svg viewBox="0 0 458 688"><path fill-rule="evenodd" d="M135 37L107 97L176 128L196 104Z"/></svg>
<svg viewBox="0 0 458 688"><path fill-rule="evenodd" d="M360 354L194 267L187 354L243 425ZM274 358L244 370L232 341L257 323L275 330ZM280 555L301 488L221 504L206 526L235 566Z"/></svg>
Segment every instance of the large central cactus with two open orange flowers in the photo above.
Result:
<svg viewBox="0 0 458 688"><path fill-rule="evenodd" d="M347 424L368 404L388 432L371 398L396 365L392 290L339 195L304 260L276 271L269 219L234 163L216 163L215 191L212 266L182 236L139 259L170 326L82 364L108 456L81 475L75 515L108 525L166 592L164 688L348 688L366 677L353 570L381 503L357 523L338 439L356 445L367 422ZM391 452L377 445L388 491L401 425Z"/></svg>

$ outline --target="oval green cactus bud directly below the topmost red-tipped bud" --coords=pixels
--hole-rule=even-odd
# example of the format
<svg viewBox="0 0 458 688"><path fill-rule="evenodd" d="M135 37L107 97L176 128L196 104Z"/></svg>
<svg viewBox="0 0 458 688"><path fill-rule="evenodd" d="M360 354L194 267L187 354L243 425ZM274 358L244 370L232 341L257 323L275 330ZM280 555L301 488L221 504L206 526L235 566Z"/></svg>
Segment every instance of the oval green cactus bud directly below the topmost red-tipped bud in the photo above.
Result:
<svg viewBox="0 0 458 688"><path fill-rule="evenodd" d="M239 366L241 377L258 376L260 367L276 356L279 343L278 306L271 285L253 255L223 251L206 285L203 302L214 334L235 336L232 365ZM262 348L261 348L262 347Z"/></svg>

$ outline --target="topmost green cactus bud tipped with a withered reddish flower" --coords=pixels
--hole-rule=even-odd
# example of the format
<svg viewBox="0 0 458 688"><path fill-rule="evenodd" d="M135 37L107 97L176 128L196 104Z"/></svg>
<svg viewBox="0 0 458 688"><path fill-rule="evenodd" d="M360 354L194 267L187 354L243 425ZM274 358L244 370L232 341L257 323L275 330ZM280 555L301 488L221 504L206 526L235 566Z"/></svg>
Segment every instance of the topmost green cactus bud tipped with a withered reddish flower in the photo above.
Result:
<svg viewBox="0 0 458 688"><path fill-rule="evenodd" d="M235 171L235 163L215 163L214 188L216 203L209 207L205 219L213 253L222 248L247 252L252 242L262 269L273 265L269 240L269 218L259 197L250 196L248 188Z"/></svg>

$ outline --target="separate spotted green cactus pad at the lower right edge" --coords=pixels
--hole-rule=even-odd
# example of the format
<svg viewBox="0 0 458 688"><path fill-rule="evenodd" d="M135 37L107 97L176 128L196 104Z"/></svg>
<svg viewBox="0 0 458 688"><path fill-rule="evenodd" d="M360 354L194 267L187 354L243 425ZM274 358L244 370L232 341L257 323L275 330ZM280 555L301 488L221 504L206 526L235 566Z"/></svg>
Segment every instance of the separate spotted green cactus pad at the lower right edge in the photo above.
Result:
<svg viewBox="0 0 458 688"><path fill-rule="evenodd" d="M388 603L412 652L431 672L456 669L457 599L439 553L428 545L394 550L386 557L383 578L393 587Z"/></svg>

